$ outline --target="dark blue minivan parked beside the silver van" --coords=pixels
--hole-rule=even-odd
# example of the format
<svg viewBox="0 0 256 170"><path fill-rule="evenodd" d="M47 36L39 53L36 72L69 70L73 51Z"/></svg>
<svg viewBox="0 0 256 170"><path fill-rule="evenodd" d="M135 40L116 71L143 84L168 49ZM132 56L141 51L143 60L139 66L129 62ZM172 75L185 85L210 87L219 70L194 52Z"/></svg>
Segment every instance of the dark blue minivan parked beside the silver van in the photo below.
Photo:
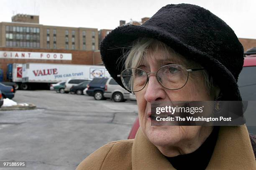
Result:
<svg viewBox="0 0 256 170"><path fill-rule="evenodd" d="M89 85L87 85L88 90L86 93L89 96L93 96L95 100L103 100L107 80L108 78L94 78Z"/></svg>

